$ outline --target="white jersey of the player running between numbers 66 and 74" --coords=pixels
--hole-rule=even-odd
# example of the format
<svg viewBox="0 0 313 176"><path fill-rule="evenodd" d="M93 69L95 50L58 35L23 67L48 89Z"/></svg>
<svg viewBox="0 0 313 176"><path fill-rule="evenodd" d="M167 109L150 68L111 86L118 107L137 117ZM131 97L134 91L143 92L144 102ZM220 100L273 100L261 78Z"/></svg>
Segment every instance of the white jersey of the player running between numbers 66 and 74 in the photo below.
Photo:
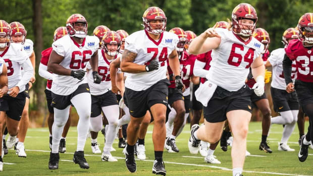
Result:
<svg viewBox="0 0 313 176"><path fill-rule="evenodd" d="M117 58L119 54L115 57ZM88 62L87 81L90 88L91 95L102 95L112 89L111 76L110 76L110 63L113 60L108 60L105 56L103 49L98 49L98 74L102 77L101 83L96 84L93 82L92 69Z"/></svg>

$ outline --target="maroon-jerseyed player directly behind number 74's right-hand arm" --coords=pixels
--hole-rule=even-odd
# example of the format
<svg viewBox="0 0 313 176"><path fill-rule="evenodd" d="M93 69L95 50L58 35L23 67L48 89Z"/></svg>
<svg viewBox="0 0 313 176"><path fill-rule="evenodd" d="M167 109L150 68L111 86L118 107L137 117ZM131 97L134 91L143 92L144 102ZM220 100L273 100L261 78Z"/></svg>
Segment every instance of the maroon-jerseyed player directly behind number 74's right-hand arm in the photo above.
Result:
<svg viewBox="0 0 313 176"><path fill-rule="evenodd" d="M172 92L173 94L169 93L169 103L170 104L170 113L168 122L166 123L166 133L167 133L167 140L165 142L165 148L169 152L179 152L179 149L176 145L176 137L179 136L179 134L183 131L187 118L189 116L189 109L190 109L190 79L193 83L199 82L199 77L195 77L193 75L193 66L195 61L195 55L189 54L185 49L185 45L187 43L187 34L184 32L181 28L173 28L170 30L170 32L175 33L178 38L179 42L177 44L177 51L179 55L179 61L180 61L180 67L181 67L181 76L183 80L183 84L185 87L185 91L181 94L175 93L176 90L175 82L173 81L173 76L171 74L173 73L171 68L168 67L168 72L170 76L171 85L169 86L169 92ZM172 87L172 88L171 88ZM182 96L181 96L182 95ZM183 98L182 98L183 97ZM180 98L183 99L183 102L180 102ZM176 100L173 102L173 100ZM180 107L183 105L183 107ZM177 111L178 109L178 111ZM185 109L184 116L180 116L179 110ZM174 125L173 125L174 124Z"/></svg>

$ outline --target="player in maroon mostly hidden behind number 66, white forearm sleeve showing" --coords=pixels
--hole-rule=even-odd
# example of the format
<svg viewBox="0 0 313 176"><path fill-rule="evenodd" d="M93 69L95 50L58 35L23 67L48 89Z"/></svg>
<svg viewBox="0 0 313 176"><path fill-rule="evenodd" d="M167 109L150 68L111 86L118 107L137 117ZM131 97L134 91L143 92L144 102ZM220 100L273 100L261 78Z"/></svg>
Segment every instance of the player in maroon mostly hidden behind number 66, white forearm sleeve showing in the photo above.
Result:
<svg viewBox="0 0 313 176"><path fill-rule="evenodd" d="M65 35L68 35L66 27L63 27L63 26L58 27L56 29L56 31L54 32L53 40L57 41L58 39L62 38ZM39 76L47 79L47 85L46 85L46 88L44 90L44 93L45 93L45 97L46 97L46 101L47 101L47 107L48 107L48 111L49 111L47 122L48 122L48 129L49 129L49 148L50 148L50 150L51 150L51 146L52 146L52 125L54 122L54 113L55 113L54 108L51 106L51 102L52 102L51 85L52 85L54 75L53 75L53 73L47 71L47 65L48 65L49 56L51 54L51 51L52 51L52 47L49 47L49 48L47 48L41 52L41 60L40 60L40 65L39 65L39 69L38 69ZM64 126L62 137L60 140L60 145L59 145L59 152L60 153L65 153L65 151L66 151L66 135L67 135L67 133L70 129L70 125L71 125L71 110L72 110L72 106L70 107L69 119L67 120L67 122Z"/></svg>

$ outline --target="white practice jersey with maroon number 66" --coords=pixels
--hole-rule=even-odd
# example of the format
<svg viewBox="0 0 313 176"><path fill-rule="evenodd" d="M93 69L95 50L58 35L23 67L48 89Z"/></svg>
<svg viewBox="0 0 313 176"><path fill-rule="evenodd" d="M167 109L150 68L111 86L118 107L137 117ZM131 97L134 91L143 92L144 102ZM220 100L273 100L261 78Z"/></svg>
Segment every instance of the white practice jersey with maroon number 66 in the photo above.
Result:
<svg viewBox="0 0 313 176"><path fill-rule="evenodd" d="M95 36L86 36L80 45L69 35L66 35L52 44L53 50L64 56L60 63L66 69L85 70L87 62L98 49L99 39ZM51 91L58 95L69 95L81 84L87 83L85 79L79 80L72 76L55 75Z"/></svg>

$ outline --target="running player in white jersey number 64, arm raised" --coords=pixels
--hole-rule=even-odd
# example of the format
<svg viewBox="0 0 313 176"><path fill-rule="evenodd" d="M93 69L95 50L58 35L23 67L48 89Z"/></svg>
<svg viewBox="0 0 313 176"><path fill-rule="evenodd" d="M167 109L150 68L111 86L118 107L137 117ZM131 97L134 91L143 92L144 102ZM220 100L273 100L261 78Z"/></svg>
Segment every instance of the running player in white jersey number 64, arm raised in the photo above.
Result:
<svg viewBox="0 0 313 176"><path fill-rule="evenodd" d="M207 81L195 92L197 100L205 106L205 125L192 126L189 150L199 150L200 140L210 143L220 140L227 119L234 137L233 176L241 175L245 159L251 119L251 90L245 80L250 67L256 80L255 94L264 93L265 67L261 57L264 45L252 37L256 21L255 9L246 3L239 4L232 12L232 25L228 29L209 28L189 46L192 54L212 50L211 68L205 76Z"/></svg>

